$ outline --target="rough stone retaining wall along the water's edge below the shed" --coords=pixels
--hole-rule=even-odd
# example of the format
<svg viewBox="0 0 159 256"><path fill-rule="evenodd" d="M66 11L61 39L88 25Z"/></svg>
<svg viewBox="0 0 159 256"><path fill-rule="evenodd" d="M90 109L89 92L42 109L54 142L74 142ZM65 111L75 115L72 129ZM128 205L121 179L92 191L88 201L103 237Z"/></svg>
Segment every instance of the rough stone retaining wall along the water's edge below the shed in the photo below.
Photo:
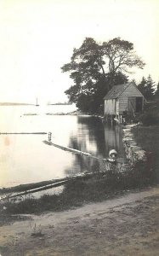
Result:
<svg viewBox="0 0 159 256"><path fill-rule="evenodd" d="M139 161L146 162L146 152L140 148L135 142L132 128L135 125L126 125L122 129L122 140L125 148L126 157L131 165L135 165Z"/></svg>

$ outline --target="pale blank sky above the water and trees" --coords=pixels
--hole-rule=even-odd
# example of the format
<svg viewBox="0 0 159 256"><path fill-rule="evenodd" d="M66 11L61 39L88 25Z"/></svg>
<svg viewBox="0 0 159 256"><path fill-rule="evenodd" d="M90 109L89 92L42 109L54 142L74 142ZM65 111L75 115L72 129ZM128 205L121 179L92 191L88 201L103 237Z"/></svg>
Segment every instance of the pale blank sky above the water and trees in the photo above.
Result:
<svg viewBox="0 0 159 256"><path fill-rule="evenodd" d="M0 102L65 102L60 67L86 37L120 37L146 66L130 79L159 81L158 0L0 0Z"/></svg>

